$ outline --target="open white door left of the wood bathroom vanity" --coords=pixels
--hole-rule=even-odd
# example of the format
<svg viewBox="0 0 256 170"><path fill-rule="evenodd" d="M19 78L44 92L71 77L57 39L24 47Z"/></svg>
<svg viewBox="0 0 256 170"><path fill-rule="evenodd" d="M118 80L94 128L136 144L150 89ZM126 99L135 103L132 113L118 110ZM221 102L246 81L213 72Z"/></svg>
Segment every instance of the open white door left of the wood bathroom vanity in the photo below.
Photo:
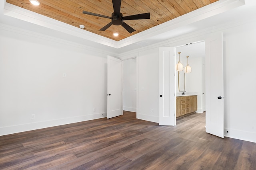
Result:
<svg viewBox="0 0 256 170"><path fill-rule="evenodd" d="M159 125L176 125L174 48L159 49Z"/></svg>

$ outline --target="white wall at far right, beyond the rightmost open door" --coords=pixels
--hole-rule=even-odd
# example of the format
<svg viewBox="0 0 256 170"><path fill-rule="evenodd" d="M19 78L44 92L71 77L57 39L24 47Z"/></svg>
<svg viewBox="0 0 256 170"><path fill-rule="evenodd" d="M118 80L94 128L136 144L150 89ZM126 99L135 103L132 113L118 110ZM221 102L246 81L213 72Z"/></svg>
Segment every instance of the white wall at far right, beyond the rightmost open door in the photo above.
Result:
<svg viewBox="0 0 256 170"><path fill-rule="evenodd" d="M225 135L254 142L256 142L255 30L254 20L226 29L223 34Z"/></svg>

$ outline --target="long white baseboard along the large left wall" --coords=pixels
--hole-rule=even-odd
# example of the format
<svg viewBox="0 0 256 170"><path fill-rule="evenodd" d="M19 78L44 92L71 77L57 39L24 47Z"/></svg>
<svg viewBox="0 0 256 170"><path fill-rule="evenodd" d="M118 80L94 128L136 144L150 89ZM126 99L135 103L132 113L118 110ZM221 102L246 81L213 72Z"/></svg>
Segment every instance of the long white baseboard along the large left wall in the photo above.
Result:
<svg viewBox="0 0 256 170"><path fill-rule="evenodd" d="M42 129L46 127L54 127L59 125L66 125L70 123L77 123L81 121L88 121L93 119L99 119L107 117L107 113L96 113L93 115L83 115L77 117L67 117L64 119L55 119L50 121L41 121L41 122L34 122L28 123L23 125L14 125L8 127L0 127L0 136L2 135L9 135L13 133L25 132L25 131L32 131L36 129Z"/></svg>

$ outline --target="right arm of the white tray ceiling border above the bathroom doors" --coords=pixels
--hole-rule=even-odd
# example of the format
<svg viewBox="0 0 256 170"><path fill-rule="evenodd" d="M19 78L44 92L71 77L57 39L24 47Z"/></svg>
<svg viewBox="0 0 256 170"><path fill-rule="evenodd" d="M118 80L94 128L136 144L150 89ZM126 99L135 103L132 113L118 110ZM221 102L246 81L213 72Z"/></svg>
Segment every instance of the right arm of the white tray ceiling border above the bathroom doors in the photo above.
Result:
<svg viewBox="0 0 256 170"><path fill-rule="evenodd" d="M177 29L178 27L189 25L190 23L194 23L196 21L200 21L200 20L215 16L217 14L226 12L233 8L242 6L244 4L245 4L244 0L219 0L217 2L209 4L202 8L199 8L198 10L194 10L192 12L189 12L188 14L184 14L183 16L174 18L170 21L167 21L165 23L162 23L160 25L157 25L155 27L152 27L140 33L137 33L135 35L132 35L131 37L122 39L118 41L117 48L125 47L133 43L138 43L139 41L145 41L145 39L148 39L149 37L157 36L162 33ZM184 31L189 31L189 32L194 31L194 29L193 30L192 29L187 29ZM181 34L183 33L188 33L188 32L182 32ZM167 38L171 38L171 37L168 37L168 35L166 35L166 39Z"/></svg>

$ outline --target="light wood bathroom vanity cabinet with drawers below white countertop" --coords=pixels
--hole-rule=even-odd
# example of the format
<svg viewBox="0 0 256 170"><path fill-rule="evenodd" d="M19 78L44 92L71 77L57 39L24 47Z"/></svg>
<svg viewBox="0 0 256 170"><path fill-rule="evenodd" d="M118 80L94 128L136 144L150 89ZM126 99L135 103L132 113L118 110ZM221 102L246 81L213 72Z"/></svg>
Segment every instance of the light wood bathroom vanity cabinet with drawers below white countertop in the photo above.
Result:
<svg viewBox="0 0 256 170"><path fill-rule="evenodd" d="M197 96L176 97L176 117L194 113L197 110Z"/></svg>

